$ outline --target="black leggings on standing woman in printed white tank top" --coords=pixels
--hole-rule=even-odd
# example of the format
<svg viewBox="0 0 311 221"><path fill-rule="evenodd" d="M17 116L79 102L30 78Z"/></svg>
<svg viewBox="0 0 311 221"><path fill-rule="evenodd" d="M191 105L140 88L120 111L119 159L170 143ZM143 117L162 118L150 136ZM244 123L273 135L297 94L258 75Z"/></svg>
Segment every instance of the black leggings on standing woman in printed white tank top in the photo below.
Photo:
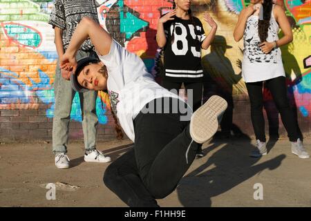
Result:
<svg viewBox="0 0 311 221"><path fill-rule="evenodd" d="M290 102L287 97L287 89L285 84L285 77L276 77L266 81L267 88L270 90L276 108L281 115L283 125L288 131L288 137L291 142L298 139L298 127L296 118ZM263 81L246 83L249 101L251 104L251 115L256 140L265 142L265 120L263 119Z"/></svg>

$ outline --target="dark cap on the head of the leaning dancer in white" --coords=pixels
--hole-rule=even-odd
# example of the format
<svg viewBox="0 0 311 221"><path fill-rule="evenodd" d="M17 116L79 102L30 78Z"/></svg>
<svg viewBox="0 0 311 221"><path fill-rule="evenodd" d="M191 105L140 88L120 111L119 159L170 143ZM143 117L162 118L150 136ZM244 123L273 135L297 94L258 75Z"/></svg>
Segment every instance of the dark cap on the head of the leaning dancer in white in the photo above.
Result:
<svg viewBox="0 0 311 221"><path fill-rule="evenodd" d="M73 86L73 90L79 92L79 93L84 93L88 91L88 88L84 88L79 84L77 81L77 77L80 73L80 71L85 67L88 66L89 64L95 64L100 62L100 59L97 59L95 57L82 57L82 59L79 59L77 61L77 69L75 70L75 73L70 74L70 81L71 81L71 86Z"/></svg>

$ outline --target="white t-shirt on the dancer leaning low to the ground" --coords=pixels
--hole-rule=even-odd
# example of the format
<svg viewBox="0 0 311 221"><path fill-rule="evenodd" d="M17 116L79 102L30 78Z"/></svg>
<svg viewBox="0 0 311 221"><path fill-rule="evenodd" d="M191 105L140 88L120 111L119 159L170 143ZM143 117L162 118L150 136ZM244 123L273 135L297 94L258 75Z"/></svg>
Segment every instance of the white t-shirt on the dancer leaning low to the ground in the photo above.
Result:
<svg viewBox="0 0 311 221"><path fill-rule="evenodd" d="M107 88L112 110L117 114L126 135L134 142L133 119L142 108L159 97L178 97L162 88L148 73L144 62L137 55L125 50L113 39L108 55L100 60L108 70Z"/></svg>

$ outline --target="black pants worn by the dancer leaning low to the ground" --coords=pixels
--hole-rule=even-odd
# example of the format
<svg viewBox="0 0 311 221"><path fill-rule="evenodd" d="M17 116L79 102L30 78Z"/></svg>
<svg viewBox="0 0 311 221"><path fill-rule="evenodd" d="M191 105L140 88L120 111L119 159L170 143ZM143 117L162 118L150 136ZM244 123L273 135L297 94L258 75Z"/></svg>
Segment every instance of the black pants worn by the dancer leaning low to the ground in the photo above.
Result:
<svg viewBox="0 0 311 221"><path fill-rule="evenodd" d="M189 120L180 121L180 112L140 112L135 117L134 147L104 173L106 186L127 205L158 206L155 199L174 191L194 161L198 144L191 140Z"/></svg>

